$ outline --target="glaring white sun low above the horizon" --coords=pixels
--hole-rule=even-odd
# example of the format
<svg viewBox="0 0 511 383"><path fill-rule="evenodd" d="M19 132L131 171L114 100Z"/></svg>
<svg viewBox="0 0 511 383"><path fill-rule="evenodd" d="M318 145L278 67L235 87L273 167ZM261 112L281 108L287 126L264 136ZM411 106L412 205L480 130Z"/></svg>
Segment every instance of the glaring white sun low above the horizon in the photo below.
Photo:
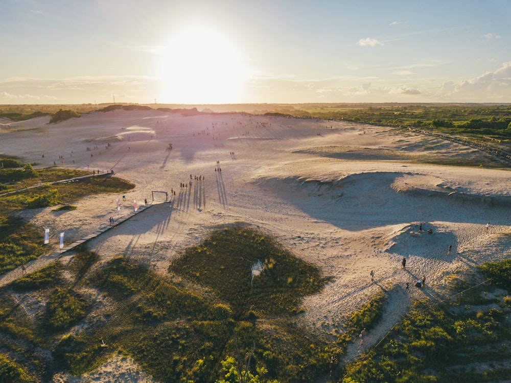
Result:
<svg viewBox="0 0 511 383"><path fill-rule="evenodd" d="M246 75L241 49L214 30L190 27L172 36L165 48L160 75L162 101L239 103Z"/></svg>

